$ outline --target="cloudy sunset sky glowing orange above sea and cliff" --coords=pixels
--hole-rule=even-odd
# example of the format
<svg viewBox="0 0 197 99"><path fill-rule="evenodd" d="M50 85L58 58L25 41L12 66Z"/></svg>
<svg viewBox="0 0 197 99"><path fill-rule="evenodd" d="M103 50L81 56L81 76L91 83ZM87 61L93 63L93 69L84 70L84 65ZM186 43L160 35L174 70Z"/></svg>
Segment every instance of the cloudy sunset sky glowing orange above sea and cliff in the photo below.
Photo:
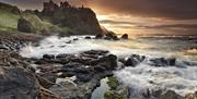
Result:
<svg viewBox="0 0 197 99"><path fill-rule="evenodd" d="M0 0L21 9L42 9L47 0ZM56 3L66 0L54 0ZM197 0L69 0L83 3L101 25L117 34L197 35Z"/></svg>

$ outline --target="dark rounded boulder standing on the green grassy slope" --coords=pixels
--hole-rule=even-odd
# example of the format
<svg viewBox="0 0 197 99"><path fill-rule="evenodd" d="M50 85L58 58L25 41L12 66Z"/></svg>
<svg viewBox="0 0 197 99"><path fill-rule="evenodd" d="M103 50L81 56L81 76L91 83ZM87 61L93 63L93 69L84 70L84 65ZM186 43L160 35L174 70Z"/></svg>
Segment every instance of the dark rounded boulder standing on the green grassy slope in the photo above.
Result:
<svg viewBox="0 0 197 99"><path fill-rule="evenodd" d="M24 33L32 33L33 26L32 26L31 22L28 22L25 18L21 17L18 21L18 30L24 32Z"/></svg>

